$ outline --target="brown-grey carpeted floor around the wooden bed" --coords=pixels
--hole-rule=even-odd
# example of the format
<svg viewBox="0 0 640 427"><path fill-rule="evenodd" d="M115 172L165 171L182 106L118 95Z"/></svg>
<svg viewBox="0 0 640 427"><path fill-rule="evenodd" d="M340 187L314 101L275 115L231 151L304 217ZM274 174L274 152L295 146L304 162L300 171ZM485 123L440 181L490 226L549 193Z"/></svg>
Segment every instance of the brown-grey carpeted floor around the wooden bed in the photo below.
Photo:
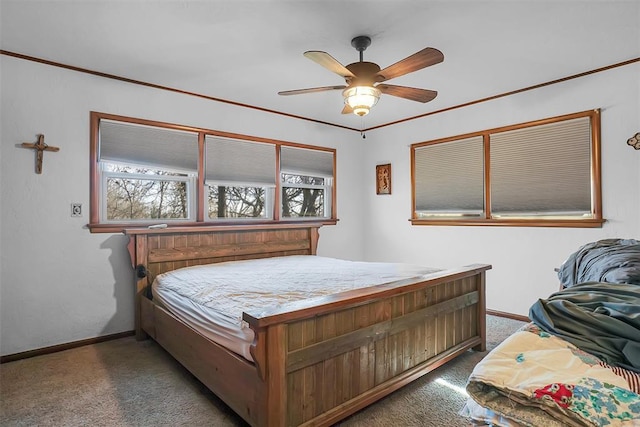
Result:
<svg viewBox="0 0 640 427"><path fill-rule="evenodd" d="M487 316L491 350L522 322ZM354 414L341 427L468 426L458 415L468 351ZM0 365L2 426L220 426L245 423L151 340L133 337Z"/></svg>

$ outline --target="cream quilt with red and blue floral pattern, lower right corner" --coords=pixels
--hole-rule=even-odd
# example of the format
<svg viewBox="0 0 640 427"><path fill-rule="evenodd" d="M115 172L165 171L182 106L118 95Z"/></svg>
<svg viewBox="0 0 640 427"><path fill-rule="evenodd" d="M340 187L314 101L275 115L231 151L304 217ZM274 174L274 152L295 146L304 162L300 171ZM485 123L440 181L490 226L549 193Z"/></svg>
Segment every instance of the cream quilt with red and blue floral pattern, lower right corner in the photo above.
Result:
<svg viewBox="0 0 640 427"><path fill-rule="evenodd" d="M609 366L533 323L475 367L467 392L506 419L497 425L640 426L638 373Z"/></svg>

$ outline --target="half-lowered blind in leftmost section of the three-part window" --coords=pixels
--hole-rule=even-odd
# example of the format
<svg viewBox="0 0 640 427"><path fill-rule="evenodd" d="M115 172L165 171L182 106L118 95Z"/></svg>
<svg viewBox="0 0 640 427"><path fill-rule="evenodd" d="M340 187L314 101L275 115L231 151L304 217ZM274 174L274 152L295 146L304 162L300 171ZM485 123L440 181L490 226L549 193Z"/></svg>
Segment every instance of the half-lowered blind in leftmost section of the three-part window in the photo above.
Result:
<svg viewBox="0 0 640 427"><path fill-rule="evenodd" d="M197 172L198 134L101 120L98 160Z"/></svg>

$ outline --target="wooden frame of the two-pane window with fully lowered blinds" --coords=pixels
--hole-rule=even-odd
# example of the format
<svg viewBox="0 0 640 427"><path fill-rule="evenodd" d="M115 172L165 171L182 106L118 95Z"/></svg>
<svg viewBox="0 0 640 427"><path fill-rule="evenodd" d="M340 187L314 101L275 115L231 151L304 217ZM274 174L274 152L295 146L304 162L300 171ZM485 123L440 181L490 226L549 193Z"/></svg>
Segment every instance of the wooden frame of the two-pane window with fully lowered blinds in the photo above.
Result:
<svg viewBox="0 0 640 427"><path fill-rule="evenodd" d="M490 135L527 127L540 126L556 123L564 120L571 120L581 117L590 118L591 146L590 146L590 166L591 166L591 215L587 218L544 218L544 217L518 217L518 218L495 218L491 213L491 164L490 164ZM484 146L484 216L463 217L463 218L419 218L416 213L416 158L417 148L454 142L467 138L482 136ZM573 114L550 117L542 120L504 126L500 128L488 129L480 132L473 132L464 135L456 135L437 140L424 141L411 145L411 224L412 225L444 225L444 226L520 226L520 227L568 227L568 228L599 228L605 222L602 217L602 189L601 189L601 160L600 160L600 110L588 110Z"/></svg>

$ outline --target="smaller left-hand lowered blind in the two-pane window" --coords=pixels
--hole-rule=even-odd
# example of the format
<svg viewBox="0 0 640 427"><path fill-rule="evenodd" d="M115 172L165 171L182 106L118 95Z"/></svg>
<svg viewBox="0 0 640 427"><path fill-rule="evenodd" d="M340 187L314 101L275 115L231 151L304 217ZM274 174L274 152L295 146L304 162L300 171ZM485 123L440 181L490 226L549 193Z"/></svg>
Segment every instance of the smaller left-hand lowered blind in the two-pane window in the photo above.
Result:
<svg viewBox="0 0 640 427"><path fill-rule="evenodd" d="M416 211L481 214L484 210L482 136L415 149Z"/></svg>

